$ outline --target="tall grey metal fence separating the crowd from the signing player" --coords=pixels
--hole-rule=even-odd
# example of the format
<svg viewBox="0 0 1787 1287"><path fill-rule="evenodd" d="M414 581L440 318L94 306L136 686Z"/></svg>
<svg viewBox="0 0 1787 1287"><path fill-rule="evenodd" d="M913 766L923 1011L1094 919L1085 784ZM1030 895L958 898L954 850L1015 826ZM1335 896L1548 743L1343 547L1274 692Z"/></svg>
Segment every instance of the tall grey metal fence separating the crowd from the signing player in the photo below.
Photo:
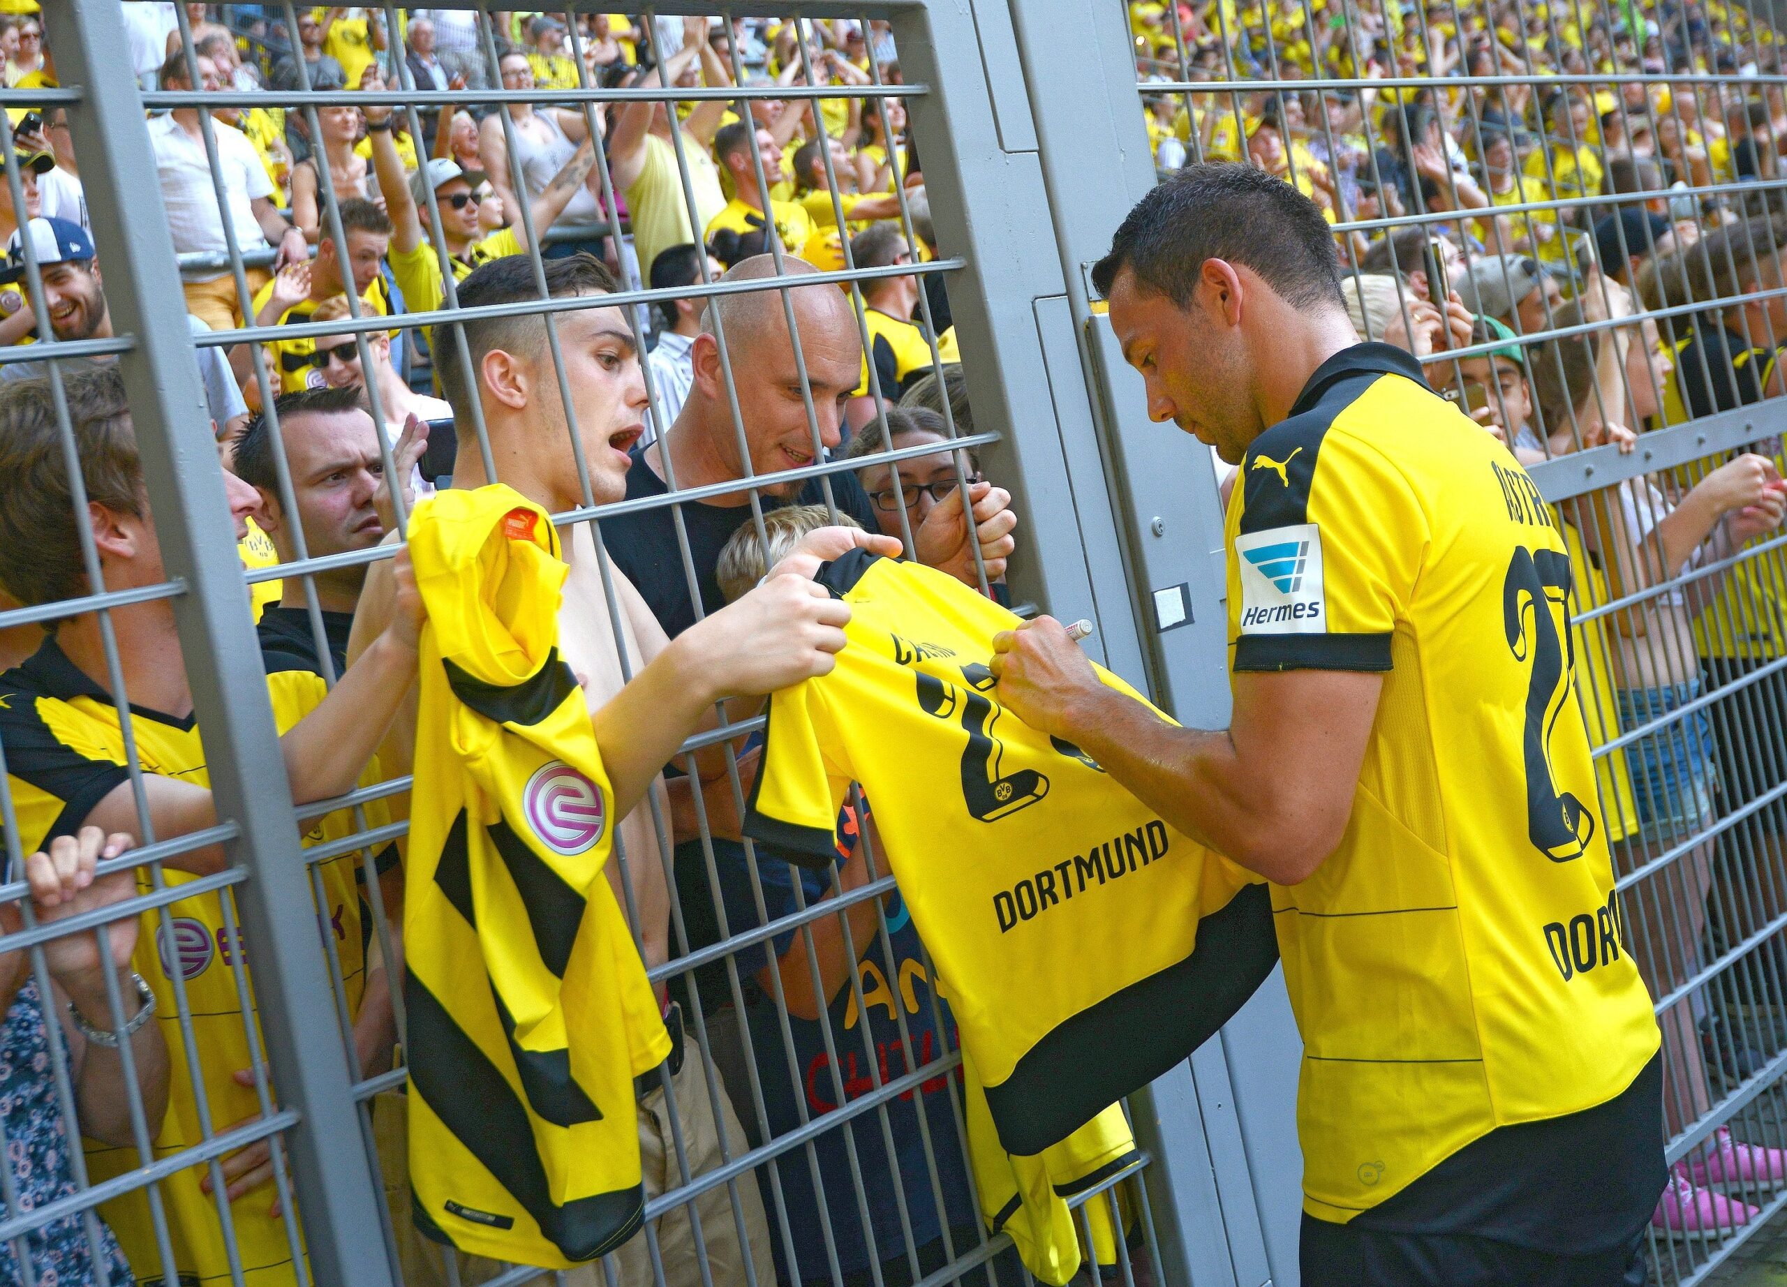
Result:
<svg viewBox="0 0 1787 1287"><path fill-rule="evenodd" d="M34 1087L70 1176L55 1192L32 1189L43 1169L18 1158L41 1139L5 1140L14 1165L0 1167L0 1244L14 1258L0 1278L38 1282L30 1266L54 1244L91 1257L95 1282L120 1282L116 1233L129 1273L168 1283L1028 1282L1010 1237L981 1221L952 1019L872 833L861 828L858 847L818 878L740 838L747 738L763 720L736 706L684 744L617 837L634 940L688 1033L681 1071L640 1085L643 1230L563 1274L420 1237L404 1151L407 1015L393 985L407 747L386 744L370 765L334 763L352 756L332 747L329 772L293 769L289 781L306 786L295 806L286 783L300 738L281 735L340 679L343 613L363 586L382 585L397 545L379 542L404 529L420 495L388 486L375 502L373 483L456 472L511 481L556 511L581 565L575 620L595 642L579 669L591 692L661 649L649 617L674 635L713 610L702 593L711 533L742 526L767 543L765 502L790 484L811 486L831 513L860 497L863 517L911 549L933 502L985 475L1013 497L1017 551L1003 590L977 551L958 559L963 576L1019 611L1095 620L1101 661L1183 722L1222 726L1219 472L1185 434L1149 424L1085 272L1151 184L1203 157L1279 170L1326 204L1362 334L1431 358L1435 388L1528 452L1571 542L1574 674L1619 837L1630 944L1665 1030L1671 1164L1723 1203L1705 1207L1698 1230L1662 1221L1653 1276L1696 1282L1776 1210L1771 1155L1742 1155L1758 1176L1721 1160L1737 1158L1735 1146L1787 1146L1787 568L1780 531L1757 518L1769 467L1749 458L1782 465L1780 404L1767 399L1787 340L1774 334L1787 331L1787 223L1774 220L1787 209L1774 145L1787 77L1769 14L1674 0L1567 11L1526 0L783 4L761 30L759 11L743 7L695 14L711 25L647 11L627 30L613 14L568 13L556 32L550 21L536 32L452 5L432 11L441 80L459 73L468 88L434 88L400 57L418 11L384 7L338 20L365 25L331 45L348 61L365 54L382 77L368 88L336 84L322 59L279 66L293 36L320 21L307 9L216 7L207 21L225 23L220 48L179 5L168 48L180 55L147 89L123 75L145 68L147 9L54 5L55 75L0 93L13 223L38 207L38 122L25 113L46 118L50 145L66 114L61 139L79 159L104 268L93 295L70 284L59 248L25 238L20 299L0 297L0 311L29 313L36 336L0 349L0 374L34 363L50 375L38 404L0 391L0 429L36 434L39 477L68 509L66 520L36 515L66 531L57 558L46 554L54 567L25 570L43 593L0 602L9 665L46 622L63 622L64 658L38 670L55 702L29 697L36 722L13 710L0 724L14 876L0 890L0 949L25 951L16 981L46 1015L25 1024L36 1044L5 1055L14 1078L34 1062L18 1092ZM1481 27L1508 30L1485 45ZM222 63L282 73L289 88L243 88L256 75ZM656 66L674 70L668 86ZM643 127L627 111L654 102L668 109L647 107ZM472 125L465 147L449 105ZM731 170L709 159L727 118L745 125L727 136ZM243 179L232 141L236 127L268 123L295 152L309 148L286 159L309 170L288 209L284 191L248 202L261 184ZM386 141L402 138L425 161L438 129L449 132L441 156L470 163L475 152L477 163L407 198L407 182L379 182ZM182 134L170 143L172 130ZM797 136L813 147L784 157ZM579 150L583 138L591 143ZM170 179L168 156L184 157L184 181ZM565 175L568 189L554 193ZM180 182L202 197L241 191L241 207L195 220ZM390 231L356 200L381 193ZM790 204L767 216L761 198L756 211L726 204L751 193ZM490 232L472 214L491 195L520 234L533 299L463 307L463 272ZM1665 227L1601 223L1621 209ZM731 227L715 248L768 254L772 270L720 282L720 265L695 252L656 284L654 252L711 241L715 214ZM288 220L307 229L302 250L279 236ZM851 236L870 223L892 234ZM627 236L613 238L617 227ZM549 270L559 272L552 256L577 248L611 261L618 291L541 302ZM820 268L801 291L788 290L797 256ZM304 290L291 286L297 307L268 286L275 259L311 265ZM402 299L427 277L418 259L432 259L438 307ZM1621 261L1630 290L1605 272ZM320 284L329 273L343 299L307 320L332 293ZM842 288L868 352L886 331L877 302L917 322L881 341L886 361L863 366L861 393L824 384L827 354L802 347L813 338L797 313L815 286ZM740 313L713 307L718 358L692 395L713 413L711 452L667 452L656 486L634 477L617 493L608 458L593 456L609 450L606 434L634 427L615 399L634 399L649 433L674 424L688 375L658 358L690 340L679 318L738 293L774 299L767 329L795 379L776 386L761 327L729 332L724 318ZM615 306L658 347L636 395L590 391L620 388L590 365L584 329ZM105 325L89 325L95 309ZM229 325L209 331L180 316L218 309ZM1508 332L1478 325L1481 315L1505 316ZM472 399L449 424L431 395L479 386L472 327L518 316L541 318L520 411ZM1714 377L1728 361L1708 340L1721 331L1741 336L1730 347L1746 358L1733 365L1753 363L1730 388ZM152 524L116 492L118 393L88 370L113 365L134 424L125 472L141 470ZM257 497L213 463L229 456L238 415L207 397L202 375L220 365L264 420L259 465L234 461L261 477ZM282 422L277 393L313 384L365 386L361 438L322 442L316 416ZM845 456L845 431L863 433L895 402L931 415L895 416L892 438ZM425 452L406 431L409 413L432 420ZM790 433L767 433L772 420ZM792 458L776 454L783 445ZM350 461L340 495L352 499L318 499L336 486L313 470L338 463L325 447ZM742 504L706 504L715 499ZM252 511L264 531L243 531ZM0 499L0 531L16 538L32 513ZM363 522L368 513L377 522ZM656 542L642 536L652 524ZM643 602L617 574L640 579L640 559L661 574L642 586ZM266 622L284 622L286 647L307 651L320 677L268 679ZM356 658L365 642L354 640ZM0 686L0 706L18 701ZM368 719L379 701L366 695ZM352 711L331 728L341 747L357 735ZM332 786L318 795L322 779ZM102 879L73 904L34 901L25 856L89 810L138 845L102 860ZM129 969L95 969L71 951L96 924L107 946L139 924ZM155 1014L109 1055L75 1014L102 1037L127 1028L141 1005L132 969ZM64 997L75 1012L59 1008ZM1079 1282L1296 1282L1296 1056L1272 983L1187 1067L1129 1101L1138 1160L1070 1203L1090 1253ZM84 1149L73 1146L82 1130ZM1678 1214L1698 1203L1678 1198ZM1094 1235L1094 1214L1122 1230L1104 1264L1097 1248L1112 1244Z"/></svg>

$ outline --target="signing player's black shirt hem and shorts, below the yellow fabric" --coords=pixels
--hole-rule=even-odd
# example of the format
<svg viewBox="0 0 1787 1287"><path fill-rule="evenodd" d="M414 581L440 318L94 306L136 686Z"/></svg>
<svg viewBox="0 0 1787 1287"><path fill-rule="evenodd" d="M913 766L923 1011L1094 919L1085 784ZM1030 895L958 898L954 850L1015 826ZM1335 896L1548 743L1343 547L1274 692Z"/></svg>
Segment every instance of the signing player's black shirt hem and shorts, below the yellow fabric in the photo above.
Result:
<svg viewBox="0 0 1787 1287"><path fill-rule="evenodd" d="M1664 1190L1662 1055L1603 1105L1503 1126L1346 1224L1303 1217L1303 1287L1640 1287Z"/></svg>

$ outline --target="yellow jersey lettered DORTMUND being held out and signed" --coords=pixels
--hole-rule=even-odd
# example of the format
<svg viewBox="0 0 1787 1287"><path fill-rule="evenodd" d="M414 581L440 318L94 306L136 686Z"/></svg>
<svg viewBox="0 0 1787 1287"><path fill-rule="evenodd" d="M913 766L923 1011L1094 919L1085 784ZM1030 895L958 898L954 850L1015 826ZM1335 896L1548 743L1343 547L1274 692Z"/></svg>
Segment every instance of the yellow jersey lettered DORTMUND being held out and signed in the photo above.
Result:
<svg viewBox="0 0 1787 1287"><path fill-rule="evenodd" d="M1004 713L986 661L1010 611L865 551L818 581L852 608L849 645L770 701L745 833L829 863L838 804L861 783L999 1140L1040 1153L1185 1058L1233 1010L1224 990L1246 997L1271 972L1265 890ZM1235 942L1194 963L1212 933ZM1222 976L1203 978L1217 955Z"/></svg>

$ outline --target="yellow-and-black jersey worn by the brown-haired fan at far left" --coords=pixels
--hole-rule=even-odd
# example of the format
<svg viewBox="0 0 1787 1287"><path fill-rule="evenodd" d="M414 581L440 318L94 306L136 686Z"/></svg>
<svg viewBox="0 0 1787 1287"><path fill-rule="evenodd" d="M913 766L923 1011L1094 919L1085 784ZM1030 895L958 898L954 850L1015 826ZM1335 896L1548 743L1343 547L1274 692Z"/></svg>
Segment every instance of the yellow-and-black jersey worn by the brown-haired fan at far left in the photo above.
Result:
<svg viewBox="0 0 1787 1287"><path fill-rule="evenodd" d="M318 676L291 670L268 676L273 717L284 733L307 715L323 697ZM198 726L191 719L173 719L139 706L132 708L130 731L145 774L179 778L209 786ZM82 674L52 638L21 667L0 676L0 742L5 744L13 804L25 853L43 847L54 837L71 835L118 783L129 779L123 735L111 697ZM379 781L377 767L368 769L361 785ZM366 806L368 822L384 826L382 801ZM306 845L352 835L352 812L331 813L304 837ZM318 908L318 922L334 937L341 963L338 983L345 988L348 1014L359 1010L365 983L361 949L361 904L356 890L356 858L332 858L320 865L327 908ZM168 885L191 879L164 869ZM147 869L138 878L139 892L152 892ZM239 921L225 922L216 892L197 894L168 904L166 921L145 917L130 967L155 992L155 1022L168 1042L168 1114L155 1135L155 1157L166 1158L206 1139L204 1117L186 1074L186 1039L170 971L179 969L191 1015L195 1056L204 1076L211 1131L256 1117L261 1112L254 1089L236 1085L234 1072L252 1065L248 1028L238 999L238 972L245 953ZM236 926L234 933L229 926ZM252 951L252 947L250 947ZM327 1035L320 1033L320 1039ZM264 1060L264 1053L261 1055ZM88 1142L88 1174L93 1183L111 1180L141 1164L134 1148ZM200 1190L207 1167L191 1165L161 1182L161 1201L173 1244L180 1282L231 1282L229 1257L218 1223L216 1201ZM300 1274L291 1264L291 1242L282 1219L268 1216L272 1185L243 1194L231 1203L231 1223L241 1251L247 1287L293 1287ZM118 1235L118 1244L139 1280L161 1280L148 1198L138 1189L100 1207L100 1216ZM307 1274L302 1276L307 1280Z"/></svg>

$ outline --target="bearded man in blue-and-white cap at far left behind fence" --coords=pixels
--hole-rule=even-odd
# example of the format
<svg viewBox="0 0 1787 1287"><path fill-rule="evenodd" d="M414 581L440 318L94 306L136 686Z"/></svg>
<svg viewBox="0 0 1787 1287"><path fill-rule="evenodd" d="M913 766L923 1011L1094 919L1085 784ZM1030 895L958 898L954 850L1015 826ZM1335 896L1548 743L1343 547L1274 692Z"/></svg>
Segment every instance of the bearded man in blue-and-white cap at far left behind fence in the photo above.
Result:
<svg viewBox="0 0 1787 1287"><path fill-rule="evenodd" d="M57 218L34 218L30 229L30 248L38 256L38 275L43 282L43 311L50 316L50 331L57 340L111 340L111 307L105 302L105 284L100 279L100 266L93 261L93 238L79 223ZM25 272L25 248L14 231L5 243L5 261L0 263L0 288L5 293L30 295L30 281ZM20 307L21 316L34 316L32 309ZM204 320L186 315L193 334L204 334L211 327ZM206 406L211 411L214 433L234 433L248 418L248 404L241 399L241 388L229 368L222 349L193 349L198 359L198 379L206 388ZM77 366L111 366L116 354L98 358L63 358L63 370ZM43 363L5 363L0 365L0 379L34 379L46 375Z"/></svg>

